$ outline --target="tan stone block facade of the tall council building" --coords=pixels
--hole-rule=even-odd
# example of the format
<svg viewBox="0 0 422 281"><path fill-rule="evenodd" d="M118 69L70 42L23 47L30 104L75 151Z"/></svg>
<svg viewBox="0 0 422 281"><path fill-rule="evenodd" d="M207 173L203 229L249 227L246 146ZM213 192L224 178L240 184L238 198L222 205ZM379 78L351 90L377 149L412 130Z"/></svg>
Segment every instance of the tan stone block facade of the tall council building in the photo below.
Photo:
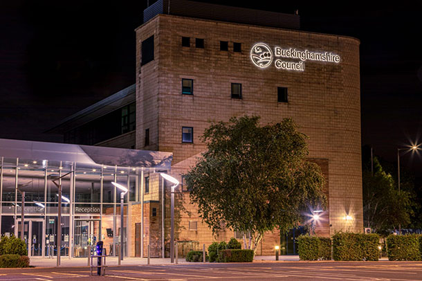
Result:
<svg viewBox="0 0 422 281"><path fill-rule="evenodd" d="M142 42L152 35L154 60L141 66ZM182 46L181 37L190 37L190 47ZM204 48L196 48L195 38L204 39ZM221 41L228 42L228 51L220 51ZM241 52L233 51L234 42L241 44ZM286 71L274 65L260 69L250 59L250 49L257 42L327 51L340 55L341 60L338 64L306 61L304 71ZM329 209L316 233L360 232L359 44L351 37L157 15L136 29L136 149L173 152L172 175L181 180L181 174L205 149L199 137L210 121L244 114L261 116L262 124L293 118L309 136L309 160L320 165L327 179ZM182 78L194 81L193 95L181 93ZM230 97L231 83L241 83L241 99ZM288 88L288 102L277 102L277 87ZM182 127L194 128L193 143L182 143ZM149 129L148 146L145 129ZM168 188L165 190L167 196ZM190 215L181 213L176 238L210 244L215 238L189 203L188 192L183 192L183 197L179 200ZM168 241L169 201L165 202ZM345 220L346 215L352 220ZM145 227L147 221L145 217ZM197 221L196 230L189 230L189 221ZM232 231L226 230L218 239L227 241L232 236ZM268 233L258 253L272 254L278 243L279 233Z"/></svg>

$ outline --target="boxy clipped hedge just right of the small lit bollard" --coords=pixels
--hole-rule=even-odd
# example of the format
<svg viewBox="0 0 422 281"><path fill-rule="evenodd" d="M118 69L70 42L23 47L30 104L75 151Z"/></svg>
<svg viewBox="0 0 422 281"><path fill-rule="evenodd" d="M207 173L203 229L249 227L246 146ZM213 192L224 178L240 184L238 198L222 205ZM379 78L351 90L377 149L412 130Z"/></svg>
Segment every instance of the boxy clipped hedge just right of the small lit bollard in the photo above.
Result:
<svg viewBox="0 0 422 281"><path fill-rule="evenodd" d="M300 260L331 260L331 238L300 235L297 251Z"/></svg>

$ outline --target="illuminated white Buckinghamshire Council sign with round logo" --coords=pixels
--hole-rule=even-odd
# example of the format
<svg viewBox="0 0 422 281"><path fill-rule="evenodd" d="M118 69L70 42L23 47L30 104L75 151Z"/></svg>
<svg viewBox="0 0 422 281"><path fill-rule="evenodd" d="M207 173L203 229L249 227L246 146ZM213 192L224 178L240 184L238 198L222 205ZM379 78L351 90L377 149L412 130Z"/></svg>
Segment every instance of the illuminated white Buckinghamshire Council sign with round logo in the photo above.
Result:
<svg viewBox="0 0 422 281"><path fill-rule="evenodd" d="M276 69L304 71L307 61L338 64L340 55L331 52L301 51L296 48L281 48L278 46L275 46L273 51L267 44L257 43L250 50L250 60L261 69L270 66L271 62L274 61Z"/></svg>

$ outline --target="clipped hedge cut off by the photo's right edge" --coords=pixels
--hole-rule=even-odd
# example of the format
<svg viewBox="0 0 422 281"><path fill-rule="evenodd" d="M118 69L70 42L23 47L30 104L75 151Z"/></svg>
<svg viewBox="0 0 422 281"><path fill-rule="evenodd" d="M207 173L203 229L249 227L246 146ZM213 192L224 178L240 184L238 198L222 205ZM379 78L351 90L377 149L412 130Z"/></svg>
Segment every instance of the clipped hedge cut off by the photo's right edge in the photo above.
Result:
<svg viewBox="0 0 422 281"><path fill-rule="evenodd" d="M422 235L387 236L388 260L422 260Z"/></svg>

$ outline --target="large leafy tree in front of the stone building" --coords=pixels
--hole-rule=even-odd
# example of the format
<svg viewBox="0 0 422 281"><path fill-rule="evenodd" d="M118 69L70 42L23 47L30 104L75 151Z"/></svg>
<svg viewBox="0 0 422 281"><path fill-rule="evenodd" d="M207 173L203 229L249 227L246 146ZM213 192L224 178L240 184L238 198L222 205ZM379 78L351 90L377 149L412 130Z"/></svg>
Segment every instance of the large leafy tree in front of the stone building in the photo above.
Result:
<svg viewBox="0 0 422 281"><path fill-rule="evenodd" d="M243 116L205 129L208 149L185 175L203 221L214 233L249 233L245 248L256 251L266 231L286 231L324 208L324 177L306 161L306 138L288 118L260 127L259 117Z"/></svg>

